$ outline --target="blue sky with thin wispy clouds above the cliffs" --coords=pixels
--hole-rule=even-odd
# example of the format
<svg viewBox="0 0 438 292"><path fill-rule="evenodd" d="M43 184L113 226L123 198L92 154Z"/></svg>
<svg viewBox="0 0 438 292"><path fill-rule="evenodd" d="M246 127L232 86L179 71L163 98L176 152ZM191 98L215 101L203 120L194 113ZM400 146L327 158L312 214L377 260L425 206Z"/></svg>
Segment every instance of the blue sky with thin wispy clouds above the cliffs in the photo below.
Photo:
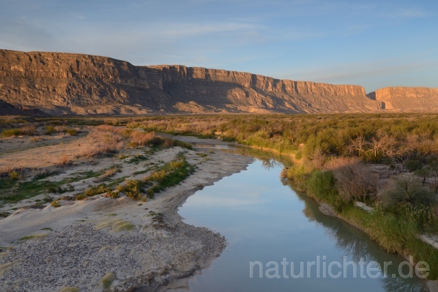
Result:
<svg viewBox="0 0 438 292"><path fill-rule="evenodd" d="M438 1L0 0L0 48L438 88Z"/></svg>

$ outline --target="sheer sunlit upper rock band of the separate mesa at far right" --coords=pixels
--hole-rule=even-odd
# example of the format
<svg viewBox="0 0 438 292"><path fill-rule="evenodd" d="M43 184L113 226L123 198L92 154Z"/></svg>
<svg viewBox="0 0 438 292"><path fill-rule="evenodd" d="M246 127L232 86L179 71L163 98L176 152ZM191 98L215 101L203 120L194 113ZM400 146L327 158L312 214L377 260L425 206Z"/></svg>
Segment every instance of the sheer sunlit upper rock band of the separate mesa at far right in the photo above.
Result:
<svg viewBox="0 0 438 292"><path fill-rule="evenodd" d="M387 87L370 92L367 96L376 101L392 98L438 98L438 88Z"/></svg>

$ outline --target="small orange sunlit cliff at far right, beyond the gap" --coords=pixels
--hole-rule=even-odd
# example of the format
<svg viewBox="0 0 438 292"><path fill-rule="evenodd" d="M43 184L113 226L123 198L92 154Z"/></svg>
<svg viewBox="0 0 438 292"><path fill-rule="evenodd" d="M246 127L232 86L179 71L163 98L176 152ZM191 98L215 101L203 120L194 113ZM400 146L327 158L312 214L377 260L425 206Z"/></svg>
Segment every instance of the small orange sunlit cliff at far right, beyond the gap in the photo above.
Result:
<svg viewBox="0 0 438 292"><path fill-rule="evenodd" d="M438 111L438 88L388 87L367 96L383 109L397 111Z"/></svg>

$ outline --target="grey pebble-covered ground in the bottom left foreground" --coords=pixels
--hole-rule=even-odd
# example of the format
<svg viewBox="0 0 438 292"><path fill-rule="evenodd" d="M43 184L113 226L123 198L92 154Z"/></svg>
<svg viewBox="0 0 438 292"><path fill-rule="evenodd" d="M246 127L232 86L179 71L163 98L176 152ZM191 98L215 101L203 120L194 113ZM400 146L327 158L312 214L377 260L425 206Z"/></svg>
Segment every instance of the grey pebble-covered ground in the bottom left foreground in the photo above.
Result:
<svg viewBox="0 0 438 292"><path fill-rule="evenodd" d="M114 233L79 223L3 250L1 291L46 292L63 287L99 291L107 273L114 275L112 291L148 285L155 289L166 278L180 278L194 271L198 259L218 256L224 246L225 239L218 233L187 224ZM12 264L5 266L8 263Z"/></svg>

